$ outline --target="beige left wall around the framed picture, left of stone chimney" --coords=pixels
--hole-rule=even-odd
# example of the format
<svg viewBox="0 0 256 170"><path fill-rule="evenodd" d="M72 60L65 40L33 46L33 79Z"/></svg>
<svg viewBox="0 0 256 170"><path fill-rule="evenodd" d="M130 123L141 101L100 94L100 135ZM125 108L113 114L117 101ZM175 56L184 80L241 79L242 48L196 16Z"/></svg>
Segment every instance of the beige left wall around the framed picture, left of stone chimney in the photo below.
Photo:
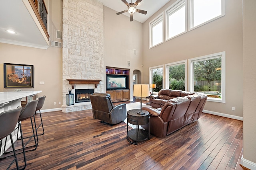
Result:
<svg viewBox="0 0 256 170"><path fill-rule="evenodd" d="M56 39L56 30L62 30L62 0L45 0L45 2L49 13L48 33L50 35L50 41L61 42L61 39ZM0 43L0 92L13 91L16 88L4 88L3 63L34 65L34 88L20 89L23 91L42 90L42 93L39 93L37 96L46 96L44 106L41 110L61 107L62 48L50 46L47 50L44 50ZM44 81L45 84L39 84L40 81ZM54 105L54 102L56 102L56 105ZM58 102L61 102L61 104L58 104Z"/></svg>

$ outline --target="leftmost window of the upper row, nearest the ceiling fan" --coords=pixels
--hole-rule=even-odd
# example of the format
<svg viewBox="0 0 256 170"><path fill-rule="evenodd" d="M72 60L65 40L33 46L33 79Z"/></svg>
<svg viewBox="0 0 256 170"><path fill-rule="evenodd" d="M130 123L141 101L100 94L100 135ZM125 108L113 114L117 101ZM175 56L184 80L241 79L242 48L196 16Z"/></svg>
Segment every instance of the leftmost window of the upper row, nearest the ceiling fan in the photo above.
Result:
<svg viewBox="0 0 256 170"><path fill-rule="evenodd" d="M150 27L150 47L163 42L163 14L149 23Z"/></svg>

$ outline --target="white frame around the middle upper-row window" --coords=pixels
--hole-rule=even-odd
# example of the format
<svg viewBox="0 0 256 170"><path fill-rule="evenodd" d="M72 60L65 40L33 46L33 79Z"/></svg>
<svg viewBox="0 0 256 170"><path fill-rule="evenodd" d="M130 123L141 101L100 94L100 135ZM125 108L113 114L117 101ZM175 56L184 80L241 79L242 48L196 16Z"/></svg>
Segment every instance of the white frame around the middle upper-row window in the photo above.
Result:
<svg viewBox="0 0 256 170"><path fill-rule="evenodd" d="M174 35L173 37L169 37L169 16L170 13L174 13L176 11L178 11L181 8L181 5L184 3L185 6L185 31ZM165 41L168 41L170 39L173 39L175 37L178 37L186 32L188 32L188 14L187 14L187 0L177 0L176 2L174 2L174 4L172 4L169 8L167 8L166 10L164 10L164 14L165 14L165 25L166 25L166 29L165 29Z"/></svg>

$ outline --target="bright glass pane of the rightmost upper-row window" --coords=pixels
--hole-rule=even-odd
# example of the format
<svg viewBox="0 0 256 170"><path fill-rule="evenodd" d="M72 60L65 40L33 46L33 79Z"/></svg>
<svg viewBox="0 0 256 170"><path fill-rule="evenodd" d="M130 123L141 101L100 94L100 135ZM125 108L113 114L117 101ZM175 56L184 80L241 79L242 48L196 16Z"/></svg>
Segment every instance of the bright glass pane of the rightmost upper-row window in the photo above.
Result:
<svg viewBox="0 0 256 170"><path fill-rule="evenodd" d="M224 0L190 0L190 28L224 16Z"/></svg>

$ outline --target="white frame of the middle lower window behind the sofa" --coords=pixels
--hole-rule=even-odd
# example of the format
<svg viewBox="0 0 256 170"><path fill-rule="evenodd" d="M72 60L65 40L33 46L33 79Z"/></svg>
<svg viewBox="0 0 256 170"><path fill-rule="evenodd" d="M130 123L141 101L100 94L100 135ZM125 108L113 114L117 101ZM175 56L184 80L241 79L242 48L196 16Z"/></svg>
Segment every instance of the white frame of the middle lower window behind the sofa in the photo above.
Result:
<svg viewBox="0 0 256 170"><path fill-rule="evenodd" d="M176 65L180 65L180 64L185 64L185 90L187 91L188 89L188 62L187 60L182 60L182 61L177 61L177 62L173 62L173 63L167 63L167 64L164 64L164 68L165 68L165 84L164 84L164 87L165 88L169 88L169 66L176 66Z"/></svg>

